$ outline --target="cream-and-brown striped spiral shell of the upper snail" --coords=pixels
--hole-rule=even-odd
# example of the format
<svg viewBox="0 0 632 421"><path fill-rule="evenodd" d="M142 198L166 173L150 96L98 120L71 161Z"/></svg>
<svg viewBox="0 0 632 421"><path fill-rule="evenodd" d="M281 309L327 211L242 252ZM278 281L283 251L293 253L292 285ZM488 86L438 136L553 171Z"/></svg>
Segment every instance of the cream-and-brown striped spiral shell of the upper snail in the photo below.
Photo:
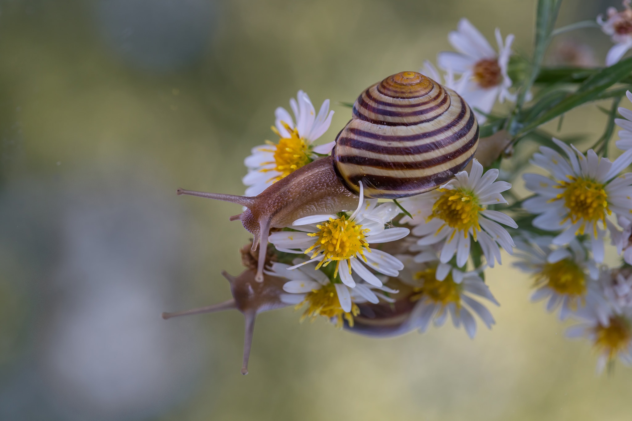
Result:
<svg viewBox="0 0 632 421"><path fill-rule="evenodd" d="M334 169L356 194L396 199L435 189L478 146L478 123L453 90L406 71L370 86L336 138Z"/></svg>

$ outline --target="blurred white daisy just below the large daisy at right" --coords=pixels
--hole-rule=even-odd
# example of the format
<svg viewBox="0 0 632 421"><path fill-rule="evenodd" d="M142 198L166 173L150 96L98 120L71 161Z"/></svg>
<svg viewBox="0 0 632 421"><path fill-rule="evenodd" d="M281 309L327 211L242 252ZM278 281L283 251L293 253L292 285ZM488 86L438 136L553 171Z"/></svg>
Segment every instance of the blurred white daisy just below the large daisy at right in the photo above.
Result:
<svg viewBox="0 0 632 421"><path fill-rule="evenodd" d="M599 269L586 256L578 240L568 247L552 249L552 237L532 237L516 240L514 263L520 270L531 273L535 292L532 301L548 300L547 311L561 307L559 318L565 320L573 312L588 305L602 321L607 321L609 305L599 291Z"/></svg>

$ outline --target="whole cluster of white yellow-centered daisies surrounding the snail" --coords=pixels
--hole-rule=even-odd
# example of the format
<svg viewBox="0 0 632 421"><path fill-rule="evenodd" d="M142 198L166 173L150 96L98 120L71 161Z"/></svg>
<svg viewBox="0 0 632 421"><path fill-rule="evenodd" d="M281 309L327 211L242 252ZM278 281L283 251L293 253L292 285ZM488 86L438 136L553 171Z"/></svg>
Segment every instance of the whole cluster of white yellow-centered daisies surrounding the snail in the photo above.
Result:
<svg viewBox="0 0 632 421"><path fill-rule="evenodd" d="M597 18L616 43L608 66L632 48L629 3L624 0L621 12L608 9L607 20ZM514 35L503 39L497 28L494 49L464 18L448 40L456 52L437 56L445 73L430 61L423 62L421 73L459 93L481 124L496 102L516 101L508 71ZM629 92L628 98L632 101ZM260 194L334 146L313 145L331 124L329 100L318 115L302 91L290 105L294 119L281 107L275 113L272 130L279 142L253 148L245 160L246 196ZM509 196L518 205L511 211L521 216L516 218L520 227L502 211L507 204L502 193L511 184L497 181L498 169L485 171L474 159L470 170L434 191L399 202L363 198L360 182L353 213L310 215L272 232L269 241L284 263L270 263L265 273L286 279L281 300L297 308L306 305L303 317L324 316L353 328L363 309L371 313L378 308L371 305L405 301L411 306L410 328L423 332L431 322L442 326L451 318L473 338L475 316L488 328L495 323L480 299L499 305L483 271L501 264L501 248L513 254L515 247L514 266L533 278L532 300L546 300L546 309L559 310L562 320L581 320L569 335L593 341L601 352L600 369L617 357L632 363L632 268L602 264L611 240L632 265L632 173L626 172L632 164L632 111L622 107L619 114L616 145L623 153L615 160L558 139L552 139L552 147L540 146L530 163L548 174L523 175L533 194L523 201Z"/></svg>

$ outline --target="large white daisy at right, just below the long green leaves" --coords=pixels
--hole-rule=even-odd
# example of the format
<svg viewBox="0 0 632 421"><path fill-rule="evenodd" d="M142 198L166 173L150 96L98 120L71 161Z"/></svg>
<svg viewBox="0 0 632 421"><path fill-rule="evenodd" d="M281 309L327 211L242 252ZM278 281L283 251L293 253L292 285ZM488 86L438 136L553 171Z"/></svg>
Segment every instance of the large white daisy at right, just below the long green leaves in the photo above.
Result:
<svg viewBox="0 0 632 421"><path fill-rule="evenodd" d="M632 150L625 151L611 162L599 158L592 149L584 155L573 145L553 139L568 159L540 146L531 163L548 170L552 178L539 174L525 174L526 188L535 193L526 199L523 208L538 214L533 226L545 231L562 230L552 240L553 244L563 246L578 234L587 234L592 239L592 251L595 261L604 261L606 217L616 215L629 216L632 210L632 173L617 174L632 163ZM572 149L571 149L572 148Z"/></svg>

